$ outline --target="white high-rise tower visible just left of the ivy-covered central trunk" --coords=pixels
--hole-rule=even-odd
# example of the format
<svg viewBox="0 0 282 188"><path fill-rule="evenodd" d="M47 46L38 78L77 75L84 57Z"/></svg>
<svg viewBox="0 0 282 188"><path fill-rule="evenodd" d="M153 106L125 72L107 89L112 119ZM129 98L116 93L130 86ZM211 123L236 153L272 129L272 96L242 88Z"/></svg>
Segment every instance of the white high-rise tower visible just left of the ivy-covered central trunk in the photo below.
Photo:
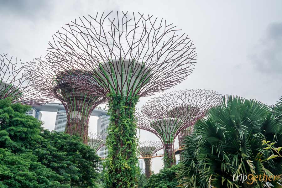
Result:
<svg viewBox="0 0 282 188"><path fill-rule="evenodd" d="M101 115L98 119L97 122L97 132L104 134L107 132L108 127L109 127L109 123L110 123L110 116L107 115ZM102 148L99 149L99 151L97 152L97 154L102 158L105 159L108 156L108 151L107 151L107 147L103 146ZM99 171L102 171L103 167L102 165L99 166Z"/></svg>

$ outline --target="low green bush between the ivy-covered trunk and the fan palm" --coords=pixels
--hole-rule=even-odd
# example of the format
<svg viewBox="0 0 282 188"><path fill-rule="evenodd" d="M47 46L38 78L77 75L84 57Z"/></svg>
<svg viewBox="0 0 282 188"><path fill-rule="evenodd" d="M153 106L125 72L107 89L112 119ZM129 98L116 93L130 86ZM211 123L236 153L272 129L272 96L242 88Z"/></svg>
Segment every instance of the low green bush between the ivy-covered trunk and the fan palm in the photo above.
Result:
<svg viewBox="0 0 282 188"><path fill-rule="evenodd" d="M176 174L179 171L179 165L171 168L164 168L158 174L153 174L148 179L148 183L144 188L176 188L178 181Z"/></svg>

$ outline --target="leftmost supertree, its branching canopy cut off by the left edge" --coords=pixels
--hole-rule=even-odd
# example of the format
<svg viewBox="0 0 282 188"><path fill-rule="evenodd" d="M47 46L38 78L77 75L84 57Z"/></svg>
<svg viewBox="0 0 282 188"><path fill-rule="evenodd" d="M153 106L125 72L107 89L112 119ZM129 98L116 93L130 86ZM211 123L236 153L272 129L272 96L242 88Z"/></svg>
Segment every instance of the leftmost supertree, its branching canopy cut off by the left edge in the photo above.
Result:
<svg viewBox="0 0 282 188"><path fill-rule="evenodd" d="M0 99L10 97L13 103L20 102L24 105L41 105L50 102L40 88L31 84L31 77L25 69L28 63L0 54Z"/></svg>

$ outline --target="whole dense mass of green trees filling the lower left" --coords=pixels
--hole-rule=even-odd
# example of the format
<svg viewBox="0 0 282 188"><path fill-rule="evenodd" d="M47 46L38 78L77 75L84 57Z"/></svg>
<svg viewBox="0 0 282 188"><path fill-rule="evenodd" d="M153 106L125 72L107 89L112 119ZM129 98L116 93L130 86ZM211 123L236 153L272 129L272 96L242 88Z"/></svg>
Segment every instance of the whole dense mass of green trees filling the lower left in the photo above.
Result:
<svg viewBox="0 0 282 188"><path fill-rule="evenodd" d="M0 187L97 187L95 150L79 137L41 132L29 109L0 100Z"/></svg>

